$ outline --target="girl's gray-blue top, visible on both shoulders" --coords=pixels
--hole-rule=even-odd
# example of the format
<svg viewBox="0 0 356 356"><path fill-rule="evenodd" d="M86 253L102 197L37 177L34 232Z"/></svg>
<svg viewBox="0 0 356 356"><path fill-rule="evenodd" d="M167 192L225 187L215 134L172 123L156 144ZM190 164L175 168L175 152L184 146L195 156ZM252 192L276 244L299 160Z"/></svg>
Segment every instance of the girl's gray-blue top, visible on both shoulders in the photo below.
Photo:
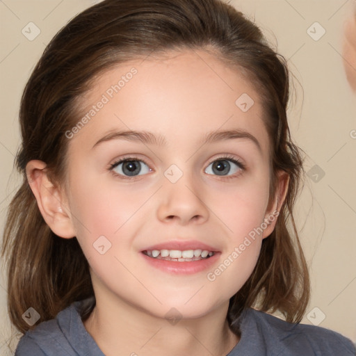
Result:
<svg viewBox="0 0 356 356"><path fill-rule="evenodd" d="M81 321L82 300L22 336L15 356L104 356ZM227 356L355 356L353 343L337 332L292 324L245 309L236 320L241 339Z"/></svg>

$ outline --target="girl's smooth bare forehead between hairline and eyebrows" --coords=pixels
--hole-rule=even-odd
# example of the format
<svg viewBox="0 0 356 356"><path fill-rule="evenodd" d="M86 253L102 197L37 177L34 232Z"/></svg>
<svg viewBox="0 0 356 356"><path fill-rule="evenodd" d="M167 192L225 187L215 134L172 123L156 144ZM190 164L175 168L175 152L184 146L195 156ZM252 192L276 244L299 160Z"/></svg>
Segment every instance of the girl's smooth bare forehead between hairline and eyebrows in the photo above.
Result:
<svg viewBox="0 0 356 356"><path fill-rule="evenodd" d="M172 143L218 129L245 129L268 148L261 98L237 70L206 51L171 51L120 63L101 74L81 98L76 134L110 130L160 132ZM172 141L173 140L173 141Z"/></svg>

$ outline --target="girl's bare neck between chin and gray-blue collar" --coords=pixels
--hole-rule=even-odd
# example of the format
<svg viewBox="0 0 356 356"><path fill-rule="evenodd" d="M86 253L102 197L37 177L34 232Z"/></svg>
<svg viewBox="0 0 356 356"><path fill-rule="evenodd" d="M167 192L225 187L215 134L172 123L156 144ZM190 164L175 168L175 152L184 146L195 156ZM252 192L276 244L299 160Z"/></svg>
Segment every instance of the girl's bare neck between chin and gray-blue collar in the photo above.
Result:
<svg viewBox="0 0 356 356"><path fill-rule="evenodd" d="M123 300L96 298L84 326L106 356L225 356L238 343L226 320L228 302L200 318L147 314Z"/></svg>

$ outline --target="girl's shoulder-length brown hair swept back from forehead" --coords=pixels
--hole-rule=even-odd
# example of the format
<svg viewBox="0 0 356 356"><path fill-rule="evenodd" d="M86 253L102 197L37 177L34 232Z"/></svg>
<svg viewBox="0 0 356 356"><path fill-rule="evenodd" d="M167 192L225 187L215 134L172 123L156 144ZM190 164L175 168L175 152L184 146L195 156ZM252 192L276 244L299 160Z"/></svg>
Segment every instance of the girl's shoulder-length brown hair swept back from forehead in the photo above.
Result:
<svg viewBox="0 0 356 356"><path fill-rule="evenodd" d="M79 121L81 97L95 78L118 63L170 49L211 51L258 86L270 138L270 197L279 170L290 178L277 225L262 243L257 266L230 299L229 324L252 306L280 311L287 321L302 319L309 301L309 274L292 211L304 171L286 119L286 60L268 45L255 24L223 1L105 0L56 34L22 96L22 146L16 165L23 182L8 209L1 252L8 263L10 321L20 332L35 327L22 319L29 307L40 314L40 321L47 321L72 302L94 296L88 261L76 237L60 238L44 222L26 178L26 163L46 162L52 179L63 183L65 132ZM287 229L289 222L293 234ZM83 312L83 320L92 307Z"/></svg>

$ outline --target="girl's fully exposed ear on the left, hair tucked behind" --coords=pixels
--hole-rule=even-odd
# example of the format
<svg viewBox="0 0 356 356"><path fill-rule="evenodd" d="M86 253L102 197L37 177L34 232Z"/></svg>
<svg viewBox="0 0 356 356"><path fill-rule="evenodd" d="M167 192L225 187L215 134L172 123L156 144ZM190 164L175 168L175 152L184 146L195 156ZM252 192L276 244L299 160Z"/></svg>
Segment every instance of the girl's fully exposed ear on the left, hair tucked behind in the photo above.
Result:
<svg viewBox="0 0 356 356"><path fill-rule="evenodd" d="M26 165L26 175L38 208L52 232L63 238L74 237L76 234L70 211L65 207L65 195L50 181L46 163L38 160L29 161Z"/></svg>

